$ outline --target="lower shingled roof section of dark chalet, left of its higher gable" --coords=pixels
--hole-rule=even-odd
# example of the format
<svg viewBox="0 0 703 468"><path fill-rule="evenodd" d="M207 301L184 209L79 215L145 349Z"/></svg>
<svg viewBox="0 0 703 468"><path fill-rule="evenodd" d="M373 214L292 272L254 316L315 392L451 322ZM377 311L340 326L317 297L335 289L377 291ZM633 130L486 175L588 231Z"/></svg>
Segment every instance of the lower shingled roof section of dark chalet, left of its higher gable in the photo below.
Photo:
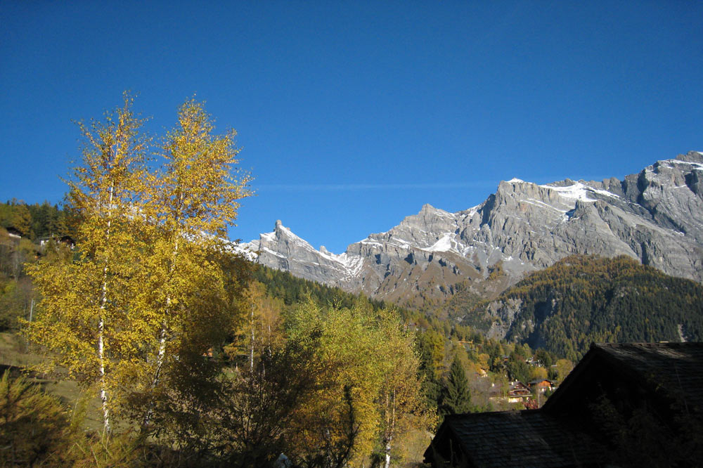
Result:
<svg viewBox="0 0 703 468"><path fill-rule="evenodd" d="M435 441L452 435L470 465L481 468L595 465L602 446L540 410L449 415ZM432 446L425 460L432 459Z"/></svg>

